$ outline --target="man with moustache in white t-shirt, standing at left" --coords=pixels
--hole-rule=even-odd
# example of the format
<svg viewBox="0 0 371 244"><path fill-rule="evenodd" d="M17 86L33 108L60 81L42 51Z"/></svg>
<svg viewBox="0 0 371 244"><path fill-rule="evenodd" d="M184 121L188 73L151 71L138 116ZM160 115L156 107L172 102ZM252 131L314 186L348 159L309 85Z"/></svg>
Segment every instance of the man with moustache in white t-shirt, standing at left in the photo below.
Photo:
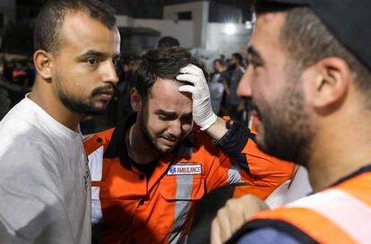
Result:
<svg viewBox="0 0 371 244"><path fill-rule="evenodd" d="M116 19L98 0L51 0L35 22L32 92L0 122L0 242L91 243L79 122L118 81Z"/></svg>

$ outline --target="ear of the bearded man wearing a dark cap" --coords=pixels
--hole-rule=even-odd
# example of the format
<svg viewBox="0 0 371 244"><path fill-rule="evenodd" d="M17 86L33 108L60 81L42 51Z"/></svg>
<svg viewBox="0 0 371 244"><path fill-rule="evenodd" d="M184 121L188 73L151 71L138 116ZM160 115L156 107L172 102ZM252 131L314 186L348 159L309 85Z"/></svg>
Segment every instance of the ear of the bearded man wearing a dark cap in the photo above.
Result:
<svg viewBox="0 0 371 244"><path fill-rule="evenodd" d="M315 64L313 105L319 112L329 112L342 104L349 90L349 65L339 57L324 58Z"/></svg>

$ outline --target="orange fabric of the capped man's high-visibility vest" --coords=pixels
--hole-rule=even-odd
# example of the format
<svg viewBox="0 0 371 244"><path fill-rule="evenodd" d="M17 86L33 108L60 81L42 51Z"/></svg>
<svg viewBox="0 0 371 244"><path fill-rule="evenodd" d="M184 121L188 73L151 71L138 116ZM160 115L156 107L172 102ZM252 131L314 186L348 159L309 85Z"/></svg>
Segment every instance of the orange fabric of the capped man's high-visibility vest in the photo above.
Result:
<svg viewBox="0 0 371 244"><path fill-rule="evenodd" d="M367 213L357 213L357 215L360 218L365 218L365 222L360 222L364 224L367 224L367 221L369 222L371 213L371 172L362 173L348 181L342 182L338 186L324 190L322 193L329 194L332 189L341 190L341 192L349 194L362 206L367 206ZM311 197L312 196L307 198ZM326 201L325 204L332 206L335 202ZM341 211L337 209L337 213L334 214L343 215L344 217L342 219L340 217L339 219L349 221L347 215L350 214L347 214L347 212L350 210L358 211L357 208L355 209L355 206L349 206L343 207ZM308 206L300 207L300 203L294 203L294 206L286 206L274 210L263 211L260 214L254 215L249 221L253 223L258 220L277 220L289 223L303 231L307 236L311 237L318 243L359 243L354 235L355 231L357 231L357 226L353 226L352 230L344 230L341 227L341 223L335 223L326 217L324 213L316 211L315 206L310 208ZM371 239L369 241L371 241Z"/></svg>

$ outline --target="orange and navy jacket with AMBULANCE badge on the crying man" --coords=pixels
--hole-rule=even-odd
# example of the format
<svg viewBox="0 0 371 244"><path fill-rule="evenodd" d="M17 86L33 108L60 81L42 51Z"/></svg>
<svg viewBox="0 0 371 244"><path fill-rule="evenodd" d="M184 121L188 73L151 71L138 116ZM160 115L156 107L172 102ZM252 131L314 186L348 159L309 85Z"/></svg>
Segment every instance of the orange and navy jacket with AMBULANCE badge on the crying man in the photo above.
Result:
<svg viewBox="0 0 371 244"><path fill-rule="evenodd" d="M125 149L125 132L134 122L131 116L84 142L91 169L93 239L100 243L177 243L189 229L196 202L212 189L228 184L278 187L293 172L292 164L273 167L255 156L246 126L228 122L229 131L214 143L194 128L175 152L160 156L147 180Z"/></svg>

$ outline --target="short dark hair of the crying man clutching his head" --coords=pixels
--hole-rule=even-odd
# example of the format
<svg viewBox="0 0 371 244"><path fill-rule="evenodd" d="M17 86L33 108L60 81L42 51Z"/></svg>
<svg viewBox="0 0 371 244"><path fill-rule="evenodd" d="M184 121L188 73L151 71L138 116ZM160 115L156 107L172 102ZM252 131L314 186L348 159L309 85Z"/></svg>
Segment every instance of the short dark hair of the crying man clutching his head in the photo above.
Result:
<svg viewBox="0 0 371 244"><path fill-rule="evenodd" d="M142 56L135 88L142 99L146 100L158 78L176 80L180 69L189 63L202 69L205 78L209 78L205 65L185 48L172 46L152 49Z"/></svg>

